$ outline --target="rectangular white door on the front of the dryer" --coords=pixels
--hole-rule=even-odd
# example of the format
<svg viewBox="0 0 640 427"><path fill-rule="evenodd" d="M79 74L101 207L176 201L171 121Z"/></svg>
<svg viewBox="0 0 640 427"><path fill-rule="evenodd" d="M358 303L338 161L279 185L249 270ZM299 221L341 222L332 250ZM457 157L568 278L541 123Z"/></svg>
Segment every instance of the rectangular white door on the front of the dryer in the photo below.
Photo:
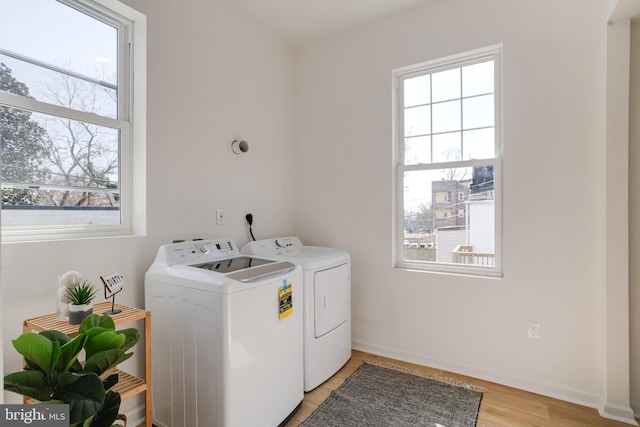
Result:
<svg viewBox="0 0 640 427"><path fill-rule="evenodd" d="M349 273L348 264L315 272L313 288L316 338L342 325L351 315Z"/></svg>

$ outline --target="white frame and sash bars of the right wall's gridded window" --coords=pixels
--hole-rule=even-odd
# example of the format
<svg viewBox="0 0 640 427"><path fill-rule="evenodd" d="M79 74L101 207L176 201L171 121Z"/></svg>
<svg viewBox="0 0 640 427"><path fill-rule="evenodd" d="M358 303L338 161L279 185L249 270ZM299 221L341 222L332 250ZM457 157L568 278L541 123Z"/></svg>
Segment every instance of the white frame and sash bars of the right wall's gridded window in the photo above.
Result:
<svg viewBox="0 0 640 427"><path fill-rule="evenodd" d="M392 231L392 262L393 267L407 271L449 273L490 278L503 277L502 269L502 44L488 46L469 52L451 55L445 58L422 62L406 67L394 69L392 72L392 102L393 102L393 231ZM404 165L404 118L403 109L399 106L403 99L402 80L413 75L421 75L429 69L429 73L452 68L452 66L464 66L466 62L474 63L479 59L492 58L495 61L494 72L494 132L495 132L495 158L487 160L474 160L464 162L447 162L443 164L430 164L431 167L458 167L479 166L492 164L494 166L494 192L495 192L495 265L493 267L477 267L468 264L437 263L427 261L413 261L404 259L404 188L403 175L405 171L420 170L420 166Z"/></svg>

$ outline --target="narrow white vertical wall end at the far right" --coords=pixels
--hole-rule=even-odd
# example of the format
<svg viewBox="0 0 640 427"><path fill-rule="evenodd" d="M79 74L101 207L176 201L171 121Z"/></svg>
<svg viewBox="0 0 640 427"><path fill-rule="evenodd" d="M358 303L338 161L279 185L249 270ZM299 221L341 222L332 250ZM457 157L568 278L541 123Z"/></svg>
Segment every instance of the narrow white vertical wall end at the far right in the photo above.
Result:
<svg viewBox="0 0 640 427"><path fill-rule="evenodd" d="M617 8L616 8L617 10ZM614 12L615 14L615 12ZM631 23L606 26L606 149L604 152L605 313L604 405L611 415L632 413L629 325L629 92ZM626 402L626 404L622 404Z"/></svg>

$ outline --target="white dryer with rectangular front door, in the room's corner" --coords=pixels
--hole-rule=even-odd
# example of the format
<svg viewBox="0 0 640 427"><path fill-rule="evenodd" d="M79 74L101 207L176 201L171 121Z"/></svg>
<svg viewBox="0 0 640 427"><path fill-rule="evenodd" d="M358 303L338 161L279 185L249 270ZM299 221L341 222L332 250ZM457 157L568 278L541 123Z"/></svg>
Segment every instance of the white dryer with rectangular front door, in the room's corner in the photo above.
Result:
<svg viewBox="0 0 640 427"><path fill-rule="evenodd" d="M305 246L297 237L249 242L241 252L302 266L304 390L313 390L351 357L351 256L339 249Z"/></svg>

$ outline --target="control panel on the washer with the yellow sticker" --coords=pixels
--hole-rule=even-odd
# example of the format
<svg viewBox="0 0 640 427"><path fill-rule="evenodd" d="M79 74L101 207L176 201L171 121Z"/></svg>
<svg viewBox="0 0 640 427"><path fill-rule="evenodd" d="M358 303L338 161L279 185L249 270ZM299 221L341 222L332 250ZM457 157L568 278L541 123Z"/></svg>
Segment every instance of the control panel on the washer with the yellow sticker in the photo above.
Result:
<svg viewBox="0 0 640 427"><path fill-rule="evenodd" d="M229 239L171 243L162 249L168 265L205 263L240 254L236 244Z"/></svg>

